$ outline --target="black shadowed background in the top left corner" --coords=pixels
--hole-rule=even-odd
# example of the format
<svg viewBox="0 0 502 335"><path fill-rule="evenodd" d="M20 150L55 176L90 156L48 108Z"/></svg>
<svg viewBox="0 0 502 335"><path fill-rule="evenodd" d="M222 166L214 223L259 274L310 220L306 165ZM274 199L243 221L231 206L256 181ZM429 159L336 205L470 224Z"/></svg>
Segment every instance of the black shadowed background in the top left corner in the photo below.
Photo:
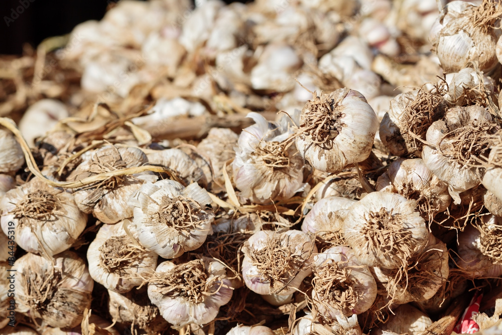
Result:
<svg viewBox="0 0 502 335"><path fill-rule="evenodd" d="M27 43L36 48L48 37L70 33L81 22L101 20L106 10L118 1L0 0L0 54L20 55Z"/></svg>

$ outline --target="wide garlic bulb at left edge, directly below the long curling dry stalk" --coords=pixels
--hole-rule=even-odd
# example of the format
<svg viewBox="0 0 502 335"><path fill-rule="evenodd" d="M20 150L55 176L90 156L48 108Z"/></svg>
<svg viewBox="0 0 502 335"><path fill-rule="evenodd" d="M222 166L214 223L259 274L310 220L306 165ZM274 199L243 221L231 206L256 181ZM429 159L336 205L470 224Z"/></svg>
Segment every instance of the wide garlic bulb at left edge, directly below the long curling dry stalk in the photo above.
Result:
<svg viewBox="0 0 502 335"><path fill-rule="evenodd" d="M44 256L70 248L87 222L87 215L78 209L71 193L37 177L0 198L0 212L4 233L9 234L9 222L15 222L16 244Z"/></svg>

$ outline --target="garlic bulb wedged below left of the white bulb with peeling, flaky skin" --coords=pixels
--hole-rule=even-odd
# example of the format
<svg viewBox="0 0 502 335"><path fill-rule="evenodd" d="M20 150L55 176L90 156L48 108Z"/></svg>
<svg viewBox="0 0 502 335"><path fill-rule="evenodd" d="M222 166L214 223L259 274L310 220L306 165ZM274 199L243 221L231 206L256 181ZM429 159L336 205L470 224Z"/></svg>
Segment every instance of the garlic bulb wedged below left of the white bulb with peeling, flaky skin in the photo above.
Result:
<svg viewBox="0 0 502 335"><path fill-rule="evenodd" d="M125 293L141 285L157 266L158 255L131 240L123 227L128 224L129 221L104 224L87 249L92 279L117 293ZM127 229L137 239L134 227Z"/></svg>

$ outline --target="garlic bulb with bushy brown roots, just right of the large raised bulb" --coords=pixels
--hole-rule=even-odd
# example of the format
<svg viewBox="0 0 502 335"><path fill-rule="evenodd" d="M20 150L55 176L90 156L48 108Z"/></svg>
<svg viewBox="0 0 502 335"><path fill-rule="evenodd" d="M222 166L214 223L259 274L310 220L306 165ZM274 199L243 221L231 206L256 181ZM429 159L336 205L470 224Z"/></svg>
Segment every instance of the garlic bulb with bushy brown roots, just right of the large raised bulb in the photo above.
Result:
<svg viewBox="0 0 502 335"><path fill-rule="evenodd" d="M438 92L439 90L439 92ZM442 88L401 93L391 100L388 113L380 124L382 143L396 156L422 156L429 126L444 115Z"/></svg>

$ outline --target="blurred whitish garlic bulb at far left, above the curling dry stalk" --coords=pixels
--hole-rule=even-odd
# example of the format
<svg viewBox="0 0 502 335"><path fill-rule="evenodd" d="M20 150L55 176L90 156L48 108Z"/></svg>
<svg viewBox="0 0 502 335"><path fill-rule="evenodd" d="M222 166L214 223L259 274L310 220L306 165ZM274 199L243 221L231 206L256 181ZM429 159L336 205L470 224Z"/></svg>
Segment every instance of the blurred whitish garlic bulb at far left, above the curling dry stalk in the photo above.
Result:
<svg viewBox="0 0 502 335"><path fill-rule="evenodd" d="M59 120L69 116L64 103L54 99L42 99L32 104L19 122L19 130L29 146L35 139L44 136L57 125Z"/></svg>

